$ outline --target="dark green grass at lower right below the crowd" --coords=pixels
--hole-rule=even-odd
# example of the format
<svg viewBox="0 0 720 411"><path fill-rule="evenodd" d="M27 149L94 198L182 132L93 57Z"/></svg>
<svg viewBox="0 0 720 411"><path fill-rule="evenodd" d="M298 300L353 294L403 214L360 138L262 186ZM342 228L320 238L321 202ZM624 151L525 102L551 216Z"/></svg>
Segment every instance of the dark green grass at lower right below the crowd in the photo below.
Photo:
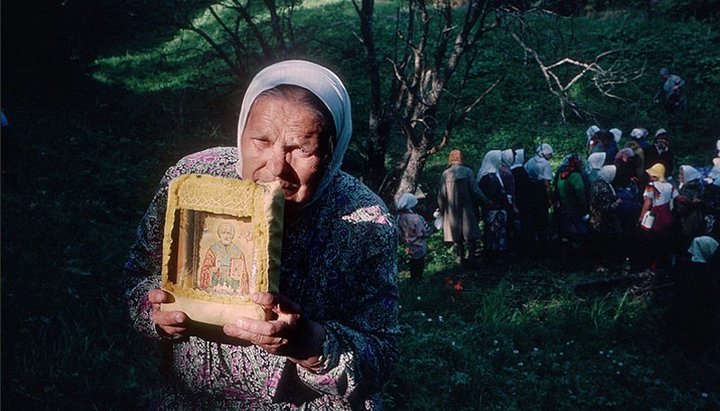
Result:
<svg viewBox="0 0 720 411"><path fill-rule="evenodd" d="M431 254L445 254L435 249ZM528 262L431 271L401 284L391 409L712 409L716 366L663 355L663 308L623 291L579 296L592 273ZM554 264L557 267L557 264ZM445 277L445 280L440 278ZM462 281L457 293L447 280ZM714 371L713 371L714 370ZM708 379L709 378L709 379Z"/></svg>

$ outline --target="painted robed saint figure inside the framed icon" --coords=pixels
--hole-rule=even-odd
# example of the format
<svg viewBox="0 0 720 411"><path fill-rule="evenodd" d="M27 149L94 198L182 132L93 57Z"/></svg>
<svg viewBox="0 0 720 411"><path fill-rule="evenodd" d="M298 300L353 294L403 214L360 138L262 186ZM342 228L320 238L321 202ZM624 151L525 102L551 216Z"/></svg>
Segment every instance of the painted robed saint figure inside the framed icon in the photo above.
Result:
<svg viewBox="0 0 720 411"><path fill-rule="evenodd" d="M233 241L235 227L229 223L221 223L217 233L220 240L208 248L200 267L199 287L219 292L249 294L250 274L245 254Z"/></svg>

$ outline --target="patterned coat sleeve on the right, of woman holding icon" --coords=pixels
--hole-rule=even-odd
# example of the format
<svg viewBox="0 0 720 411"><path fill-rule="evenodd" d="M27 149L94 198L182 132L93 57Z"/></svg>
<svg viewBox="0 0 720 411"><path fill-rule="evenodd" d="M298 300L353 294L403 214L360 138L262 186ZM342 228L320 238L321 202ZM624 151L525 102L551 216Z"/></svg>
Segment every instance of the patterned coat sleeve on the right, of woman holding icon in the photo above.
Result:
<svg viewBox="0 0 720 411"><path fill-rule="evenodd" d="M372 211L371 211L372 212ZM322 321L326 331L323 368L312 372L298 366L301 380L315 391L348 401L369 398L389 379L398 359L399 327L397 247L395 228L387 212L375 208L373 224L355 233L356 267L353 290L340 320ZM367 220L365 221L367 222Z"/></svg>

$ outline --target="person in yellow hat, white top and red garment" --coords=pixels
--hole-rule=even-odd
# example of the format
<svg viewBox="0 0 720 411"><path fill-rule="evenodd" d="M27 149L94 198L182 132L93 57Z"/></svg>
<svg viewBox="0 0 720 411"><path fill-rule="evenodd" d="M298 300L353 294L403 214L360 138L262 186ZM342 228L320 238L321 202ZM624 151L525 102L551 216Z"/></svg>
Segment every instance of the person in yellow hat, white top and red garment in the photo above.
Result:
<svg viewBox="0 0 720 411"><path fill-rule="evenodd" d="M672 252L672 201L677 197L675 187L665 179L665 166L657 163L645 170L650 182L643 192L643 206L638 216L642 228L642 242L647 268L655 272L659 265L669 266ZM652 216L652 225L646 213Z"/></svg>

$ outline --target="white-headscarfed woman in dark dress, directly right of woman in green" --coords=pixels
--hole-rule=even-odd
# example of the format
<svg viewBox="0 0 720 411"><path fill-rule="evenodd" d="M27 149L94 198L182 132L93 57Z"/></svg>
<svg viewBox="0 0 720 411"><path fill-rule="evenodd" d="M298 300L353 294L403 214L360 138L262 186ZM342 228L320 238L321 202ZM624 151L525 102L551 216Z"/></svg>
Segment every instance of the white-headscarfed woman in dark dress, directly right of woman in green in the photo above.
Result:
<svg viewBox="0 0 720 411"><path fill-rule="evenodd" d="M612 182L615 179L615 166L603 166L598 178L590 188L590 228L592 230L592 252L596 258L597 272L607 272L606 265L620 256L618 245L622 228L617 215L620 205Z"/></svg>

